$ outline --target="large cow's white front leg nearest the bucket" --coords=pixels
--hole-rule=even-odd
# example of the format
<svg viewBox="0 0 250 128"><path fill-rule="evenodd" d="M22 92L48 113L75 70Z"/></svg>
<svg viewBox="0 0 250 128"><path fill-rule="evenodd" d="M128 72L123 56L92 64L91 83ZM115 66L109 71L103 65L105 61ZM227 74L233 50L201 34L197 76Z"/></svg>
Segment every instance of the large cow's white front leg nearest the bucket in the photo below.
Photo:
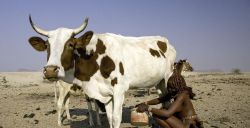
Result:
<svg viewBox="0 0 250 128"><path fill-rule="evenodd" d="M114 94L113 127L120 128L122 121L122 104L124 102L124 92L116 90Z"/></svg>

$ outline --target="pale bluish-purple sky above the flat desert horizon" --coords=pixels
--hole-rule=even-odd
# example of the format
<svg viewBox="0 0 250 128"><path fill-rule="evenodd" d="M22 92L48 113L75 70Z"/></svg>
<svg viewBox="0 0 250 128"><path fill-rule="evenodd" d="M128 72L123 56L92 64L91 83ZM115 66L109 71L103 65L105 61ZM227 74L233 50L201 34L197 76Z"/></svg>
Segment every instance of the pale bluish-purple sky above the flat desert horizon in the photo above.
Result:
<svg viewBox="0 0 250 128"><path fill-rule="evenodd" d="M40 36L29 14L46 30L76 28L88 16L85 32L167 37L177 60L197 71L250 71L249 0L1 0L0 72L46 64L46 53L28 43Z"/></svg>

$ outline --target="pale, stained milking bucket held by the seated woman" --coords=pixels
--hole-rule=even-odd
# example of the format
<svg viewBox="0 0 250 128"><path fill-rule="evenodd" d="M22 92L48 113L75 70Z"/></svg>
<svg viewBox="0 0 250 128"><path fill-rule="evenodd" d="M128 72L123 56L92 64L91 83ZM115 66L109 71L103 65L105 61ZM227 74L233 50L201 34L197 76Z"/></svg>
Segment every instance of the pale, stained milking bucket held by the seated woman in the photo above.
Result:
<svg viewBox="0 0 250 128"><path fill-rule="evenodd" d="M148 115L146 112L139 113L135 109L131 111L131 124L134 126L148 125Z"/></svg>

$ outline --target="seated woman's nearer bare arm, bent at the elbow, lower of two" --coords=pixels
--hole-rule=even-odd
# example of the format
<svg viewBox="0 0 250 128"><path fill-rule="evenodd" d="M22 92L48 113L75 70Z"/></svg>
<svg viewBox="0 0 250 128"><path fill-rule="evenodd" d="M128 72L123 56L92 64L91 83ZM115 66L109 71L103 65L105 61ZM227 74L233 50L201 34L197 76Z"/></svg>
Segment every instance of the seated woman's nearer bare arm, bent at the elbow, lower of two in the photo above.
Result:
<svg viewBox="0 0 250 128"><path fill-rule="evenodd" d="M153 114L156 114L158 116L162 116L162 117L170 117L172 116L174 113L179 112L182 110L182 104L185 100L185 95L184 94L180 94L177 99L174 101L174 103L172 103L169 107L169 109L156 109L156 108L149 108L148 110L150 112L152 112Z"/></svg>

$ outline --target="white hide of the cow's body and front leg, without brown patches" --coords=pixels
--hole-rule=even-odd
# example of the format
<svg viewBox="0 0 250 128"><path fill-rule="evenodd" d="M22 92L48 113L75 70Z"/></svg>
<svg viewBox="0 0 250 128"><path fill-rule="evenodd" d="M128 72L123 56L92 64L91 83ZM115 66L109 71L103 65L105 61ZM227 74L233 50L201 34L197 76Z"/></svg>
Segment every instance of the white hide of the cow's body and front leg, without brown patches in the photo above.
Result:
<svg viewBox="0 0 250 128"><path fill-rule="evenodd" d="M172 73L176 51L164 37L124 37L106 33L93 35L86 47L87 53L91 50L95 51L98 39L101 39L106 47L105 53L98 56L98 65L101 59L108 55L115 63L115 70L107 79L98 70L90 81L80 82L75 79L73 83L83 86L84 92L89 97L105 103L110 128L119 128L125 91L129 88L149 88L157 85L162 79L167 82ZM166 58L162 55L160 58L152 56L149 52L149 48L160 50L158 41L167 44ZM123 64L124 75L119 71L120 62ZM112 86L111 80L115 77L118 83ZM163 86L161 91L164 91L166 84Z"/></svg>

